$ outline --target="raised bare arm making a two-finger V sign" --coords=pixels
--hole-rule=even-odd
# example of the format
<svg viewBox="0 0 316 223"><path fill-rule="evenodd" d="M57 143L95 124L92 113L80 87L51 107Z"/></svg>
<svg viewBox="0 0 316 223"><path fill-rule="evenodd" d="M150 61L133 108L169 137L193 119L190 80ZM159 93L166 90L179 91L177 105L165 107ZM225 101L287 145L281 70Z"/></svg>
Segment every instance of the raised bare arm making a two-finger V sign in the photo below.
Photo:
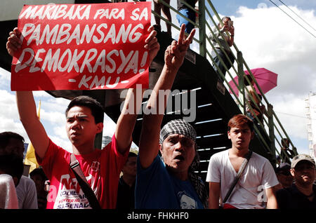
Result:
<svg viewBox="0 0 316 223"><path fill-rule="evenodd" d="M143 116L143 126L139 142L139 158L142 168L148 168L158 154L160 126L164 118L164 110L166 109L166 102L169 96L168 94L164 94L162 90L171 89L178 69L183 64L185 53L193 39L195 29L192 29L190 36L186 39L184 34L185 25L183 24L180 29L178 41L173 41L171 46L166 48L162 74L160 74L152 95L150 95L150 99L147 102L147 109L156 112L155 114L144 114ZM163 100L159 101L161 97Z"/></svg>

